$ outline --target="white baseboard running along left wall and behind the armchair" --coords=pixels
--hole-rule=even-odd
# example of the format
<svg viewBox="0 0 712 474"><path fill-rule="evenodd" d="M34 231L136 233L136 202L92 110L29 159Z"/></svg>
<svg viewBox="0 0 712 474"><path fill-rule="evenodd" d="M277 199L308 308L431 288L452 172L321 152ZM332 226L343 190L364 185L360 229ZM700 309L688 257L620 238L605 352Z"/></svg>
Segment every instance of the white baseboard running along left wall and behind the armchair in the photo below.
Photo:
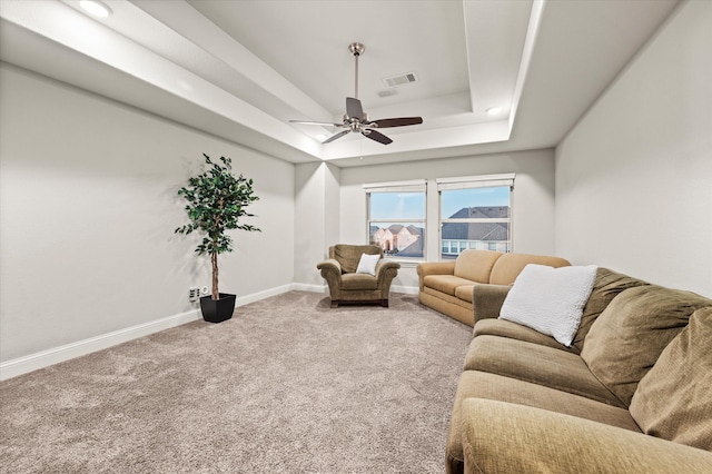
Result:
<svg viewBox="0 0 712 474"><path fill-rule="evenodd" d="M392 289L394 293L405 293L408 295L417 295L418 290L417 287L413 288L405 286L393 287ZM275 288L266 289L264 292L254 293L251 295L240 296L237 298L235 304L236 306L244 306L250 303L259 302L260 299L265 299L270 296L281 295L283 293L287 293L290 290L328 293L327 287L323 285L293 283L289 285L283 285ZM194 309L187 313L167 316L149 323L127 327L125 329L115 330L112 333L101 334L99 336L78 340L71 344L66 344L63 346L55 347L51 349L41 350L28 356L13 358L0 364L0 381L17 377L18 375L27 374L29 372L37 371L43 367L49 367L50 365L59 364L60 362L69 361L70 358L91 354L97 350L116 346L117 344L127 343L129 340L148 336L149 334L158 333L171 327L180 326L181 324L190 323L200 318L200 310Z"/></svg>

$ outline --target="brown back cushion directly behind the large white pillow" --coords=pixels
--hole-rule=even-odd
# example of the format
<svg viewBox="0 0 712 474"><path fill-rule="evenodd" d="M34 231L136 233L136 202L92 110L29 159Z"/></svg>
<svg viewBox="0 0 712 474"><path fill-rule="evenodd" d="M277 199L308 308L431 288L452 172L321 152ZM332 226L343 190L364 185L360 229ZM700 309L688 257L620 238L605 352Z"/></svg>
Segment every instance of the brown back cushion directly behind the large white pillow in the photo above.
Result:
<svg viewBox="0 0 712 474"><path fill-rule="evenodd" d="M578 330L574 337L574 346L578 348L578 352L583 348L584 340L591 329L591 325L609 306L611 300L616 297L621 292L633 288L636 286L647 285L647 283L632 278L630 276L611 271L607 268L601 268L596 270L596 278L593 283L593 289L586 306L583 308L583 315L581 316L581 324Z"/></svg>

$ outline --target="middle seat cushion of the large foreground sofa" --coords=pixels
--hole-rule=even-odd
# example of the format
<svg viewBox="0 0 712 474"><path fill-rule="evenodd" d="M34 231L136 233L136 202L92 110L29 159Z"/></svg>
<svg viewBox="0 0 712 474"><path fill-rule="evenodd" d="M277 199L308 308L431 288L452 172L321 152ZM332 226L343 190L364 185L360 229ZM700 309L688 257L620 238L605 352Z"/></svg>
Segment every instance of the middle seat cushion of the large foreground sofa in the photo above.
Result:
<svg viewBox="0 0 712 474"><path fill-rule="evenodd" d="M583 359L566 350L497 336L477 336L469 343L464 368L517 378L623 407Z"/></svg>

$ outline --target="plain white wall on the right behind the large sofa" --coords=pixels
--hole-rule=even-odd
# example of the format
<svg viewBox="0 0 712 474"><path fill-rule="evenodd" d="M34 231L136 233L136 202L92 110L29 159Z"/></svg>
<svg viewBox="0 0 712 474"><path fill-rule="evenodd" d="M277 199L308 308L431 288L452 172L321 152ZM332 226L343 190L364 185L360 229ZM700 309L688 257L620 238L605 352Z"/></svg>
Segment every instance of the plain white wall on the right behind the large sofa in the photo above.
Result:
<svg viewBox="0 0 712 474"><path fill-rule="evenodd" d="M683 3L556 148L556 251L712 297L712 2Z"/></svg>

